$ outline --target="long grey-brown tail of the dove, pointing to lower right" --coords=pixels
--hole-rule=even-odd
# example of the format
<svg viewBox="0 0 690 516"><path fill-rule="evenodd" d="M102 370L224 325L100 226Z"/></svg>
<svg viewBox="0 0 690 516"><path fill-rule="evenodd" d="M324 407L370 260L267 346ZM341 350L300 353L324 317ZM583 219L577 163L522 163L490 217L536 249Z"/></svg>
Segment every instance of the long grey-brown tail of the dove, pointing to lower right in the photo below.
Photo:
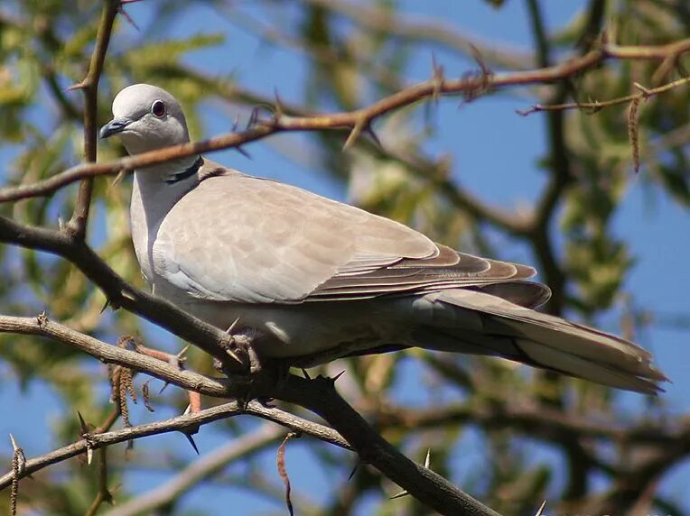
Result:
<svg viewBox="0 0 690 516"><path fill-rule="evenodd" d="M667 377L644 349L617 336L478 290L443 290L415 300L415 343L428 349L496 355L626 391L656 394ZM536 285L526 282L512 285ZM498 287L499 285L497 285ZM527 296L538 297L538 296Z"/></svg>

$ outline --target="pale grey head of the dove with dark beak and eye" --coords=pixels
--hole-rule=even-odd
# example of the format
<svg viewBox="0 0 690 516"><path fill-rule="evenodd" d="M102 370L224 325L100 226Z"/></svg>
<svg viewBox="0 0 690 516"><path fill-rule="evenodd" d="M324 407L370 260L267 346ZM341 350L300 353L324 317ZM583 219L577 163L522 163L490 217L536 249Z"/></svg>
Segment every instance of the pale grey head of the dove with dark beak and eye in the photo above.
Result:
<svg viewBox="0 0 690 516"><path fill-rule="evenodd" d="M113 116L100 137L119 134L130 154L190 141L180 103L163 88L135 84L123 89L113 100Z"/></svg>

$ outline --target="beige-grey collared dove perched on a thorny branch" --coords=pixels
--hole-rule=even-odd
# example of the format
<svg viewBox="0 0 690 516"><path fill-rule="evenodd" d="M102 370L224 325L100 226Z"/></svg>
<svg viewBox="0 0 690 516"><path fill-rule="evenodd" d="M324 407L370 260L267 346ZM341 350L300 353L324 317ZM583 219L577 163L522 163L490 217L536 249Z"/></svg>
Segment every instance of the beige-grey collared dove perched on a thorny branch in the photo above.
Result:
<svg viewBox="0 0 690 516"><path fill-rule="evenodd" d="M135 84L101 127L137 154L190 142L180 103ZM534 268L462 253L359 207L192 155L134 171L132 240L156 296L312 367L410 347L487 355L657 394L640 346L537 311Z"/></svg>

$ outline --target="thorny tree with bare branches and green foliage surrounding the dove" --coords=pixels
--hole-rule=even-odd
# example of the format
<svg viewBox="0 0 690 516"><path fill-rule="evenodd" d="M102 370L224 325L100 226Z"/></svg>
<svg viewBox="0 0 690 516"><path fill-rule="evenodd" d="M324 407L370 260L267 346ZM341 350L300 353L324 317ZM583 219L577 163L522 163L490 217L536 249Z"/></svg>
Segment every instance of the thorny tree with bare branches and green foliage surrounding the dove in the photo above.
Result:
<svg viewBox="0 0 690 516"><path fill-rule="evenodd" d="M552 313L626 336L674 320L686 324L639 306L644 298L629 281L644 253L615 227L616 217L629 217L621 212L636 181L660 205L677 207L676 217L686 215L685 5L591 0L554 27L545 22L547 3L527 0L532 49L515 51L390 2L187 4L9 2L0 9L0 355L6 377L28 392L40 385L61 407L43 445L56 451L42 455L30 445L48 428L36 428L24 417L34 409L20 411L22 399L14 401L6 418L14 452L0 479L5 503L94 514L115 501L119 514L172 513L193 511L183 495L210 484L222 505L199 507L219 511L248 506L247 493L283 504L282 483L292 479L287 500L292 496L299 513L490 513L490 506L522 514L535 513L545 498L547 511L688 511L664 483L690 453L690 426L671 415L663 396L629 403L618 392L507 361L418 350L340 361L310 372L313 380L297 372L277 385L264 376L248 386L219 378L210 356L224 359L223 346L237 343L143 290L126 225L128 189L100 177L125 182L124 172L136 165L199 149L239 151L222 159L241 160L257 174L275 163L319 170L328 181L322 188L343 195L349 184L359 206L444 244L525 256L519 261L534 263L553 290ZM492 15L505 19L517 3L490 4ZM196 24L199 32L182 30ZM234 34L229 27L249 32L240 38L245 44L265 45L251 54L263 68L245 65L241 79L229 67L217 70L228 59L224 51L242 51L224 45ZM423 60L429 78L415 82ZM200 140L221 135L203 139L196 151L135 158L98 146L98 164L89 164L112 97L134 82L171 90ZM500 170L495 183L484 183L495 188L479 194L467 186L471 170L462 165L476 136L467 141L457 121L477 124L470 111L501 99L503 112L527 116L515 115L518 123L543 121L545 150L536 164L543 184L527 170ZM439 152L449 127L465 141ZM480 134L478 126L472 130ZM527 145L519 134L509 140L493 142L495 152ZM266 144L281 155L267 157ZM247 153L254 159L242 158ZM77 180L78 191L69 187ZM532 204L501 207L509 185L520 181ZM685 243L668 243L676 246L685 253ZM664 258L661 272L673 263ZM107 303L117 311L103 310ZM183 369L184 343L158 327L193 345ZM336 391L327 378L341 369ZM151 377L182 389L151 393ZM251 400L256 394L275 401ZM224 400L233 397L238 401ZM135 410L132 401L141 399L153 415ZM189 413L173 418L186 406ZM170 431L186 435L200 456L182 448L181 438L139 441ZM298 435L299 445L288 440ZM291 461L291 449L308 465ZM274 469L266 456L275 454ZM323 472L326 483L316 478ZM142 489L136 479L156 486ZM396 496L401 490L409 496Z"/></svg>

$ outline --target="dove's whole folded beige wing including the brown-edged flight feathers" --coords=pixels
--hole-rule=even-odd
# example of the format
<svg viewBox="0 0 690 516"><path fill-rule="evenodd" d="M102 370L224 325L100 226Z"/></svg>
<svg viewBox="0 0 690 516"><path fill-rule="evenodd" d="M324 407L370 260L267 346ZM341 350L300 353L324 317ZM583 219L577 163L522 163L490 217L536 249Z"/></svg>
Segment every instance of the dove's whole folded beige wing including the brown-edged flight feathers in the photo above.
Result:
<svg viewBox="0 0 690 516"><path fill-rule="evenodd" d="M208 178L163 220L155 271L201 299L247 303L370 299L447 288L527 307L548 289L525 265L457 253L357 207L207 161Z"/></svg>

